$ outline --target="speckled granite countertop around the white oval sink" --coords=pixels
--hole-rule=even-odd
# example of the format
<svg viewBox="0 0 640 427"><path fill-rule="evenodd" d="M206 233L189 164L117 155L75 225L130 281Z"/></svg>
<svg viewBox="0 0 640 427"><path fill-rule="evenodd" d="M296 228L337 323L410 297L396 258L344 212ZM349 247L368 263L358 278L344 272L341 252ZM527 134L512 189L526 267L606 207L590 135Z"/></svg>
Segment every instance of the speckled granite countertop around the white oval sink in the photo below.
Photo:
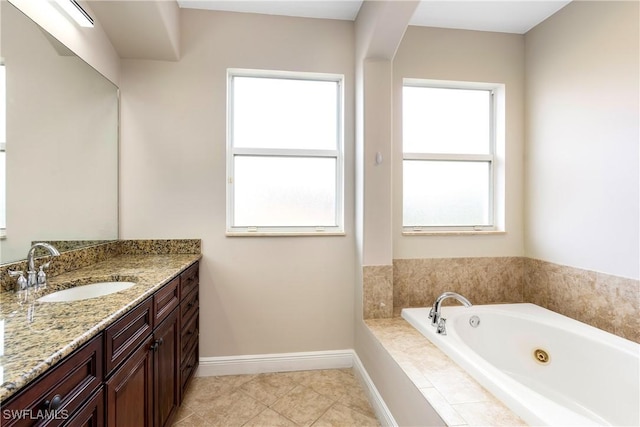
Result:
<svg viewBox="0 0 640 427"><path fill-rule="evenodd" d="M0 297L0 402L105 329L168 283L200 254L119 255L49 279L47 293L98 281L137 284L88 300L20 303L14 292ZM55 261L54 261L55 262Z"/></svg>

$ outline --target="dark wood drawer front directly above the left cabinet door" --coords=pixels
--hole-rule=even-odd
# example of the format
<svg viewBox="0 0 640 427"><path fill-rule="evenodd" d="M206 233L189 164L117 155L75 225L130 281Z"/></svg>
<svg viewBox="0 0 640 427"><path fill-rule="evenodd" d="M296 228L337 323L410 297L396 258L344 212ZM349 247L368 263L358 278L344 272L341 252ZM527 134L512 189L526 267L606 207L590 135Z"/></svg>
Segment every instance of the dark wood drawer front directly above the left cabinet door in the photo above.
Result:
<svg viewBox="0 0 640 427"><path fill-rule="evenodd" d="M153 299L147 298L120 320L105 329L105 366L108 376L124 361L153 329Z"/></svg>

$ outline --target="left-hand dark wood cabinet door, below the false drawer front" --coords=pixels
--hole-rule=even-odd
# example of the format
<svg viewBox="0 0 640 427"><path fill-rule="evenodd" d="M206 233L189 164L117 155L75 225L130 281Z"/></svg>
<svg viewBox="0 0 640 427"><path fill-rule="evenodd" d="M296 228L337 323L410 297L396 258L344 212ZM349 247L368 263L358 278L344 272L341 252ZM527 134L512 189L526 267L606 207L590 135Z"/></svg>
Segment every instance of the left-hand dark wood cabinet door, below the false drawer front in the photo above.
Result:
<svg viewBox="0 0 640 427"><path fill-rule="evenodd" d="M153 426L153 337L149 335L107 381L109 427Z"/></svg>

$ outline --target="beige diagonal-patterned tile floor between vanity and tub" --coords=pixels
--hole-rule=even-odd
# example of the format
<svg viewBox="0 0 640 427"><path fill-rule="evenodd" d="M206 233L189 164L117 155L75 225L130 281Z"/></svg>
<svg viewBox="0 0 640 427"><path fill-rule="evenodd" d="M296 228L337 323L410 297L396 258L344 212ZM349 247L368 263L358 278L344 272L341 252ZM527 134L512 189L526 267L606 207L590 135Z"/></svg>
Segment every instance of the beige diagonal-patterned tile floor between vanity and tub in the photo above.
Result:
<svg viewBox="0 0 640 427"><path fill-rule="evenodd" d="M196 377L174 427L374 427L350 369Z"/></svg>

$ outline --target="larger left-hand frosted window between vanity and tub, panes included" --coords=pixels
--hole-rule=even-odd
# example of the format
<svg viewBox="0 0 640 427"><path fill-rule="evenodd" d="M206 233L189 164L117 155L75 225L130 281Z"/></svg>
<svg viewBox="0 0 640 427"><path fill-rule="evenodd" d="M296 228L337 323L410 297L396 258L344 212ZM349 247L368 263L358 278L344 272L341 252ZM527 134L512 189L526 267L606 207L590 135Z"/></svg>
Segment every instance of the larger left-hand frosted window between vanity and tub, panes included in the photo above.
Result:
<svg viewBox="0 0 640 427"><path fill-rule="evenodd" d="M228 75L227 232L342 233L342 77Z"/></svg>

